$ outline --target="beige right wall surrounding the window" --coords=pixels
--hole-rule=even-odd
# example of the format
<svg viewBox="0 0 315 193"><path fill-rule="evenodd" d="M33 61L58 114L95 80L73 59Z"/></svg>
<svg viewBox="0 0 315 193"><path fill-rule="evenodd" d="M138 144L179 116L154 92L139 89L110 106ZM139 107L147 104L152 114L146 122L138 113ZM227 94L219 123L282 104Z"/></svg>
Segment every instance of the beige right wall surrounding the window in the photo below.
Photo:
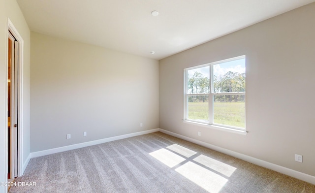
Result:
<svg viewBox="0 0 315 193"><path fill-rule="evenodd" d="M159 61L160 128L315 176L314 10L312 3ZM183 123L184 68L241 55L249 133Z"/></svg>

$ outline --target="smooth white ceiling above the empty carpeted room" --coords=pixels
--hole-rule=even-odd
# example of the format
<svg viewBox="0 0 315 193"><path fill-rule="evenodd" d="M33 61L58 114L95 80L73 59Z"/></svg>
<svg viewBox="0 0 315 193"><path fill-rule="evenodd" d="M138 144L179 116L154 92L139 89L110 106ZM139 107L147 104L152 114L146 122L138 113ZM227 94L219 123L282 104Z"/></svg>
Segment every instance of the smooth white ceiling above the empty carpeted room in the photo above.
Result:
<svg viewBox="0 0 315 193"><path fill-rule="evenodd" d="M314 1L17 0L33 32L158 60Z"/></svg>

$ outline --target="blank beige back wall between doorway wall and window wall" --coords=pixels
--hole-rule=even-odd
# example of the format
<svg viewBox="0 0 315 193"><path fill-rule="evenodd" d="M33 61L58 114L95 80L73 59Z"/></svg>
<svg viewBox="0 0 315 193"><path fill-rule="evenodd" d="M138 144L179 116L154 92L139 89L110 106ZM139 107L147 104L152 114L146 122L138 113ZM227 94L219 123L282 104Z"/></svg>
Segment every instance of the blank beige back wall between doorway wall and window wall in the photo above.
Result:
<svg viewBox="0 0 315 193"><path fill-rule="evenodd" d="M158 61L35 32L31 42L31 152L158 128Z"/></svg>

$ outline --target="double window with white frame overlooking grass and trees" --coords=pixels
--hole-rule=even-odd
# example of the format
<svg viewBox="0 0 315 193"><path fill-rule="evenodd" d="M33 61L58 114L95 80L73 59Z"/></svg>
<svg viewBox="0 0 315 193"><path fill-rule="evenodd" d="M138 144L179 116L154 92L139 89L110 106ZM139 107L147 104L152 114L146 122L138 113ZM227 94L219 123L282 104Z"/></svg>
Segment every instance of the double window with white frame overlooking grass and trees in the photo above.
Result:
<svg viewBox="0 0 315 193"><path fill-rule="evenodd" d="M186 68L184 120L245 130L246 58Z"/></svg>

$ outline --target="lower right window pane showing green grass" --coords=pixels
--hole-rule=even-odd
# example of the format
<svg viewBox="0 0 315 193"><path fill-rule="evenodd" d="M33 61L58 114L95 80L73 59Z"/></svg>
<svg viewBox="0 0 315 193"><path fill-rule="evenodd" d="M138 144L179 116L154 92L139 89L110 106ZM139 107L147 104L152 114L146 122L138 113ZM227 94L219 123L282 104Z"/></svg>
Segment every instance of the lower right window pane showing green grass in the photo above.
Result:
<svg viewBox="0 0 315 193"><path fill-rule="evenodd" d="M216 95L213 106L215 124L245 128L245 95Z"/></svg>

